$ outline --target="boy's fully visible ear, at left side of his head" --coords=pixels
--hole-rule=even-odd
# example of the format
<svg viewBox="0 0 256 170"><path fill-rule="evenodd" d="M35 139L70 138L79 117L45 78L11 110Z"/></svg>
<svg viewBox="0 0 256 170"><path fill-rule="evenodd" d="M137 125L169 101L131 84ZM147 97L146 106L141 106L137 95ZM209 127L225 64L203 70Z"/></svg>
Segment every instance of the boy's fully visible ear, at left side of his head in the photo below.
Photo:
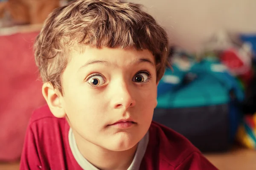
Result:
<svg viewBox="0 0 256 170"><path fill-rule="evenodd" d="M63 100L61 100L62 95L60 91L53 88L52 84L49 82L44 83L42 87L42 93L44 96L44 99L46 100L52 114L55 117L62 118L66 116L66 112L64 109L64 105L62 103Z"/></svg>

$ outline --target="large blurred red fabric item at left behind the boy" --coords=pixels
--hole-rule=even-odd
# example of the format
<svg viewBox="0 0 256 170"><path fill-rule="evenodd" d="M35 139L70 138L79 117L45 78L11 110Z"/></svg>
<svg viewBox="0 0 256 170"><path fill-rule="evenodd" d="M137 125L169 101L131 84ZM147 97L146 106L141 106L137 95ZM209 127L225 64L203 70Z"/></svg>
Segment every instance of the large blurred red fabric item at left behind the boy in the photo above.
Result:
<svg viewBox="0 0 256 170"><path fill-rule="evenodd" d="M20 158L32 111L46 103L32 52L37 34L0 36L0 161Z"/></svg>

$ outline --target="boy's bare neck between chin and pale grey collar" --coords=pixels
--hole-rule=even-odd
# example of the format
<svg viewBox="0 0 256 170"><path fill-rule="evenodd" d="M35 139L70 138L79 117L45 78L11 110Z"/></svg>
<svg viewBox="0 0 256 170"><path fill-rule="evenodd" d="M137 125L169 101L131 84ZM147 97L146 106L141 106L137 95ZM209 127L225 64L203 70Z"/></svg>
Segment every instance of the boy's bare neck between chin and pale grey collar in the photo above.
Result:
<svg viewBox="0 0 256 170"><path fill-rule="evenodd" d="M129 150L112 151L93 144L74 133L77 147L87 161L100 170L127 170L134 159L137 145Z"/></svg>

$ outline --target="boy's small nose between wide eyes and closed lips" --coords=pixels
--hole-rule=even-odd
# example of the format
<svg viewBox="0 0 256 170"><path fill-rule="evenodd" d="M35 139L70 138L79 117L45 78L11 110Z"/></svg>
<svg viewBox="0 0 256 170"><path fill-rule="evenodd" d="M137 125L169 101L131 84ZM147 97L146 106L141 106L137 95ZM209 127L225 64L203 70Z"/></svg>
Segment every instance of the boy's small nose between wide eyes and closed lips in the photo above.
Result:
<svg viewBox="0 0 256 170"><path fill-rule="evenodd" d="M130 85L131 86L131 85ZM113 108L129 108L135 106L135 99L132 95L134 93L133 87L130 87L126 83L122 83L113 88L114 95L112 98Z"/></svg>

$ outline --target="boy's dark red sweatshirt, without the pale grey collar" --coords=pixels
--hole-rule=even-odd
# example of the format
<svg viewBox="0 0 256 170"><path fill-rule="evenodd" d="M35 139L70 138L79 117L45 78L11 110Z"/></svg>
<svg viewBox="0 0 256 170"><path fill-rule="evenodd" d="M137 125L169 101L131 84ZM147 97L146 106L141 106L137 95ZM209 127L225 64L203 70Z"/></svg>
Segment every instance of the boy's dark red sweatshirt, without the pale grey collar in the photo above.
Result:
<svg viewBox="0 0 256 170"><path fill-rule="evenodd" d="M36 110L30 120L20 170L82 170L68 141L70 126L56 118L48 106ZM152 122L149 142L140 170L217 170L188 139Z"/></svg>

